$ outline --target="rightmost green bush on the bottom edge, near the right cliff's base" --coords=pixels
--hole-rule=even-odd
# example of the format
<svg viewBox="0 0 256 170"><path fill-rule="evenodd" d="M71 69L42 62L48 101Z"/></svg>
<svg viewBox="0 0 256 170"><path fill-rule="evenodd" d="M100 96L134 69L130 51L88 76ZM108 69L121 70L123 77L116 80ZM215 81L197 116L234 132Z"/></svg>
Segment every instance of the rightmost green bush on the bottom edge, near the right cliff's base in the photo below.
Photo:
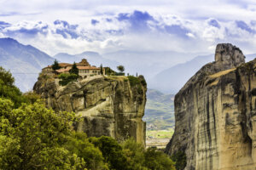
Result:
<svg viewBox="0 0 256 170"><path fill-rule="evenodd" d="M154 170L173 170L175 163L156 148L148 148L145 152L145 166Z"/></svg>

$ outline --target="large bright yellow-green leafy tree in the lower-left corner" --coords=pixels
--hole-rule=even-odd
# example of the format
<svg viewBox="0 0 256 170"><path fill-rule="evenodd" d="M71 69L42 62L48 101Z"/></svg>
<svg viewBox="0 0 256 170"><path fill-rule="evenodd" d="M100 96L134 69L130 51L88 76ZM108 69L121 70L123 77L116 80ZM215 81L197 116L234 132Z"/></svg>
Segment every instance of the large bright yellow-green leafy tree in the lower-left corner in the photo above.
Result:
<svg viewBox="0 0 256 170"><path fill-rule="evenodd" d="M75 120L38 102L14 109L0 98L0 169L84 169L84 160L63 147Z"/></svg>

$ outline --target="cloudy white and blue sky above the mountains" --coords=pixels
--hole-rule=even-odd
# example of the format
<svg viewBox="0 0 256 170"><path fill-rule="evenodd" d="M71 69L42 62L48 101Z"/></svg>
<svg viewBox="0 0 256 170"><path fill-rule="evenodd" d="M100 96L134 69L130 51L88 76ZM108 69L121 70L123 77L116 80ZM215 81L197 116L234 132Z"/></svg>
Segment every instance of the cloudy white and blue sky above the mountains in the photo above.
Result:
<svg viewBox="0 0 256 170"><path fill-rule="evenodd" d="M0 0L0 37L54 55L119 50L256 53L255 0Z"/></svg>

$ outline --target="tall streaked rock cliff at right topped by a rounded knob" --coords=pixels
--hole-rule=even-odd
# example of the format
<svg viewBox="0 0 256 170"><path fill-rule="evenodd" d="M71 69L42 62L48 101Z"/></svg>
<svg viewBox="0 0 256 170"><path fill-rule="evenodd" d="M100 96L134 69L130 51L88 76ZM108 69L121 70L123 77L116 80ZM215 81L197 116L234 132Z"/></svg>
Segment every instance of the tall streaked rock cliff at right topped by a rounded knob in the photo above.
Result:
<svg viewBox="0 0 256 170"><path fill-rule="evenodd" d="M218 44L175 96L175 133L166 153L186 155L184 169L256 169L256 59Z"/></svg>

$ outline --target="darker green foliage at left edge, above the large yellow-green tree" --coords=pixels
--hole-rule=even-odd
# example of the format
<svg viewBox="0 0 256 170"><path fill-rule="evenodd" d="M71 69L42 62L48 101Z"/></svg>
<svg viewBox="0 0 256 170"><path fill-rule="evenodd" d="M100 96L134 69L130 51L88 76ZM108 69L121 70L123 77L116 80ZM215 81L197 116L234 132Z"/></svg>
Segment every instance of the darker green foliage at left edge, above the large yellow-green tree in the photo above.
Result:
<svg viewBox="0 0 256 170"><path fill-rule="evenodd" d="M5 71L0 66L0 97L13 100L15 107L19 107L21 103L27 102L26 97L22 96L20 89L15 87L15 78L9 71Z"/></svg>

